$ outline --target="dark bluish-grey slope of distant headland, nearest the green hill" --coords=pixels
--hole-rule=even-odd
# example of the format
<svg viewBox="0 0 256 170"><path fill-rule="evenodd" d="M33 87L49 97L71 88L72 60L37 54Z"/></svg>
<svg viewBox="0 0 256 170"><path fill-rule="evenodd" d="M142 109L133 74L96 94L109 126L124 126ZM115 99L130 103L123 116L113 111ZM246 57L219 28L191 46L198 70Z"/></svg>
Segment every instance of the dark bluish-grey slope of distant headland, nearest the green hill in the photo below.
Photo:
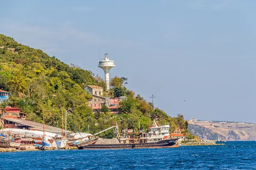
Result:
<svg viewBox="0 0 256 170"><path fill-rule="evenodd" d="M218 140L218 133L198 125L189 124L189 132L192 135L198 136L199 139ZM223 137L220 135L220 137Z"/></svg>

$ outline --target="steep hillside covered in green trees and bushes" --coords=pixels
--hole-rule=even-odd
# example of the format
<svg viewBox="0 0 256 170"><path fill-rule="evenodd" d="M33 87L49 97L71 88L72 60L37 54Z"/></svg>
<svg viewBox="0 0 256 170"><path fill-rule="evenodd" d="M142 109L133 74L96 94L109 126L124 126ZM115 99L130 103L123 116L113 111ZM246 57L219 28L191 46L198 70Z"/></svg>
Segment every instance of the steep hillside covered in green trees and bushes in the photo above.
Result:
<svg viewBox="0 0 256 170"><path fill-rule="evenodd" d="M80 131L96 133L99 130L115 125L120 129L134 127L138 129L139 122L143 127L149 125L148 115L154 112L160 117L160 123L171 126L171 132L186 131L182 115L170 117L160 109L151 110L151 103L140 95L134 96L132 91L123 85L127 79L114 77L111 79L109 96L128 96L121 103L122 114L111 115L93 113L86 102L92 96L84 91L86 85L99 85L105 88L105 82L99 76L78 66L65 64L56 57L50 57L39 49L30 48L16 42L12 37L0 34L0 89L11 93L9 102L1 103L22 108L27 113L27 120L42 122L43 110L47 125L62 127L61 111L71 108L70 115ZM68 130L74 130L72 122L68 121ZM105 133L111 137L111 132Z"/></svg>

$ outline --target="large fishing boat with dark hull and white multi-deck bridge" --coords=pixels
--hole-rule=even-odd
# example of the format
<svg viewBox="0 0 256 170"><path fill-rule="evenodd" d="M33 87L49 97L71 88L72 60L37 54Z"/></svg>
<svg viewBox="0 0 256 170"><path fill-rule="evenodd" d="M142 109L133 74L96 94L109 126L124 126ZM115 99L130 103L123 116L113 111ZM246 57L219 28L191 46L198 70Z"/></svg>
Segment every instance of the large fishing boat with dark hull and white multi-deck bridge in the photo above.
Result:
<svg viewBox="0 0 256 170"><path fill-rule="evenodd" d="M114 130L114 132L116 133L117 138L98 140L95 142L95 144L81 144L78 145L78 149L134 149L178 147L176 145L176 142L179 138L169 139L169 127L169 125L159 125L153 119L153 125L148 126L148 129L146 129L145 133L143 132L143 128L141 128L139 133L125 131L122 136L120 136L120 134L118 133L118 126L116 125L116 130ZM139 138L136 138L135 134L137 134Z"/></svg>

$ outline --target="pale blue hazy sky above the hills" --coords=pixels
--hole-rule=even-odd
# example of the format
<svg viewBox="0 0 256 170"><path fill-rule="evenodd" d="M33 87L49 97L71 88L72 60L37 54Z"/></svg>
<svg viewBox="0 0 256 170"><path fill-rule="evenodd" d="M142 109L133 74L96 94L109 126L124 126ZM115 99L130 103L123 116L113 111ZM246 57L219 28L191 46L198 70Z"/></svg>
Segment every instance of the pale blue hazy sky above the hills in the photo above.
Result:
<svg viewBox="0 0 256 170"><path fill-rule="evenodd" d="M169 116L256 123L254 0L9 0L0 34L110 77Z"/></svg>

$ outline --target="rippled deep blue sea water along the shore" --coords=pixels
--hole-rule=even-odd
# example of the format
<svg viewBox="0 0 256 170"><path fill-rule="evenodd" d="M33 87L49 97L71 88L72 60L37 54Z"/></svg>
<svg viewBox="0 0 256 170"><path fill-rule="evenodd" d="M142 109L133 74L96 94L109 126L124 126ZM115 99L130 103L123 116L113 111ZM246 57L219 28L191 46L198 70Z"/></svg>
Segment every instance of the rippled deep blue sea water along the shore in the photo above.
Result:
<svg viewBox="0 0 256 170"><path fill-rule="evenodd" d="M0 153L0 170L256 170L256 141L215 146Z"/></svg>

